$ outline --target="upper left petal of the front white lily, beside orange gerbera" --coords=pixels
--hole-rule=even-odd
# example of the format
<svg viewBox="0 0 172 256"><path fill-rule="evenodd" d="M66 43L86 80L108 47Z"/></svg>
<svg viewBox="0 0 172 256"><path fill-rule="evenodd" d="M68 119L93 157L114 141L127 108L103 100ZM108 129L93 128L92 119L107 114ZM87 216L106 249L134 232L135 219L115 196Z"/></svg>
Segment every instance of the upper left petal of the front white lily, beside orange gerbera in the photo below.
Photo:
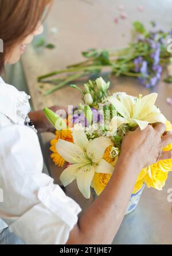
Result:
<svg viewBox="0 0 172 256"><path fill-rule="evenodd" d="M56 149L58 154L68 163L81 163L85 159L84 151L71 142L60 139L56 144Z"/></svg>

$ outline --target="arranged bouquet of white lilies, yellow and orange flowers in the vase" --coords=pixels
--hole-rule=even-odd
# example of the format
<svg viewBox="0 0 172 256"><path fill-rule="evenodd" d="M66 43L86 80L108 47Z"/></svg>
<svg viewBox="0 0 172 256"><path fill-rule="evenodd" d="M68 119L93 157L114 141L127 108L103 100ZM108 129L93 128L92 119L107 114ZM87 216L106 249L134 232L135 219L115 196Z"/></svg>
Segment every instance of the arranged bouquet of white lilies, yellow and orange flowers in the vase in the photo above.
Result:
<svg viewBox="0 0 172 256"><path fill-rule="evenodd" d="M155 106L156 93L144 97L126 93L110 95L110 82L106 83L103 78L89 81L83 91L75 85L72 87L81 91L84 103L73 109L68 120L49 109L44 112L57 129L56 138L51 142L51 157L58 166L68 163L60 177L62 184L67 186L76 179L80 192L89 198L91 187L99 196L110 181L128 131L136 126L143 130L157 122L165 123L166 130L172 131L172 124ZM172 144L163 150L172 150ZM172 159L140 170L133 193L136 194L143 184L162 190L171 170Z"/></svg>

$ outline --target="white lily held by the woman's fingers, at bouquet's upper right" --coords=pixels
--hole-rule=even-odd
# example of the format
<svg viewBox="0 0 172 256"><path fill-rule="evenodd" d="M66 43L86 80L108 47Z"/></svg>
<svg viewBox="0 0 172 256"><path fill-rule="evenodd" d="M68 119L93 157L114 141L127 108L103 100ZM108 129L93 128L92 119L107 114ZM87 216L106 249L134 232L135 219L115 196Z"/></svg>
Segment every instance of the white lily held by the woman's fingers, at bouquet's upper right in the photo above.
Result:
<svg viewBox="0 0 172 256"><path fill-rule="evenodd" d="M124 97L109 97L108 101L115 107L121 116L115 116L111 120L111 131L113 133L122 124L128 124L130 127L139 125L140 129L143 130L148 124L157 122L166 123L166 118L155 106L158 94L151 93L144 97L139 97L136 101L133 97L126 95Z"/></svg>

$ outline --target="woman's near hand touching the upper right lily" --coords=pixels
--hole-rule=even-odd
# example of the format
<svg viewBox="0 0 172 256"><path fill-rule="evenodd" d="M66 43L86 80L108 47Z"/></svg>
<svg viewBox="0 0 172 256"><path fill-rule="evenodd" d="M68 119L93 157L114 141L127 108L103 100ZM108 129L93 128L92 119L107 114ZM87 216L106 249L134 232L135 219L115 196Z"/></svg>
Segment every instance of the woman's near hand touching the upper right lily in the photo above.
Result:
<svg viewBox="0 0 172 256"><path fill-rule="evenodd" d="M153 128L148 125L143 131L137 128L124 137L120 158L135 158L140 170L162 159L172 158L172 151L162 151L172 143L172 132L165 132L165 124L157 124ZM139 171L139 170L138 170Z"/></svg>

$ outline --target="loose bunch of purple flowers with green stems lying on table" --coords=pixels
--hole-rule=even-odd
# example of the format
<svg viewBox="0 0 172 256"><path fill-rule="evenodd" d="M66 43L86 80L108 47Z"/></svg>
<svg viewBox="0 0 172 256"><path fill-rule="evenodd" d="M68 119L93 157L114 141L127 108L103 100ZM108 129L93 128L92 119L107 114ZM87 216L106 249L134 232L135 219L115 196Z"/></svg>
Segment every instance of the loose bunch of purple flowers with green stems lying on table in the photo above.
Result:
<svg viewBox="0 0 172 256"><path fill-rule="evenodd" d="M166 39L171 38L172 31L157 29L155 22L151 22L151 25L152 28L148 31L142 23L135 21L132 29L133 40L126 48L88 49L83 52L84 62L38 77L38 82L54 85L45 95L84 75L97 74L99 77L107 68L115 77L135 77L147 88L155 86L161 79L163 67L171 63ZM171 82L171 72L166 82Z"/></svg>

